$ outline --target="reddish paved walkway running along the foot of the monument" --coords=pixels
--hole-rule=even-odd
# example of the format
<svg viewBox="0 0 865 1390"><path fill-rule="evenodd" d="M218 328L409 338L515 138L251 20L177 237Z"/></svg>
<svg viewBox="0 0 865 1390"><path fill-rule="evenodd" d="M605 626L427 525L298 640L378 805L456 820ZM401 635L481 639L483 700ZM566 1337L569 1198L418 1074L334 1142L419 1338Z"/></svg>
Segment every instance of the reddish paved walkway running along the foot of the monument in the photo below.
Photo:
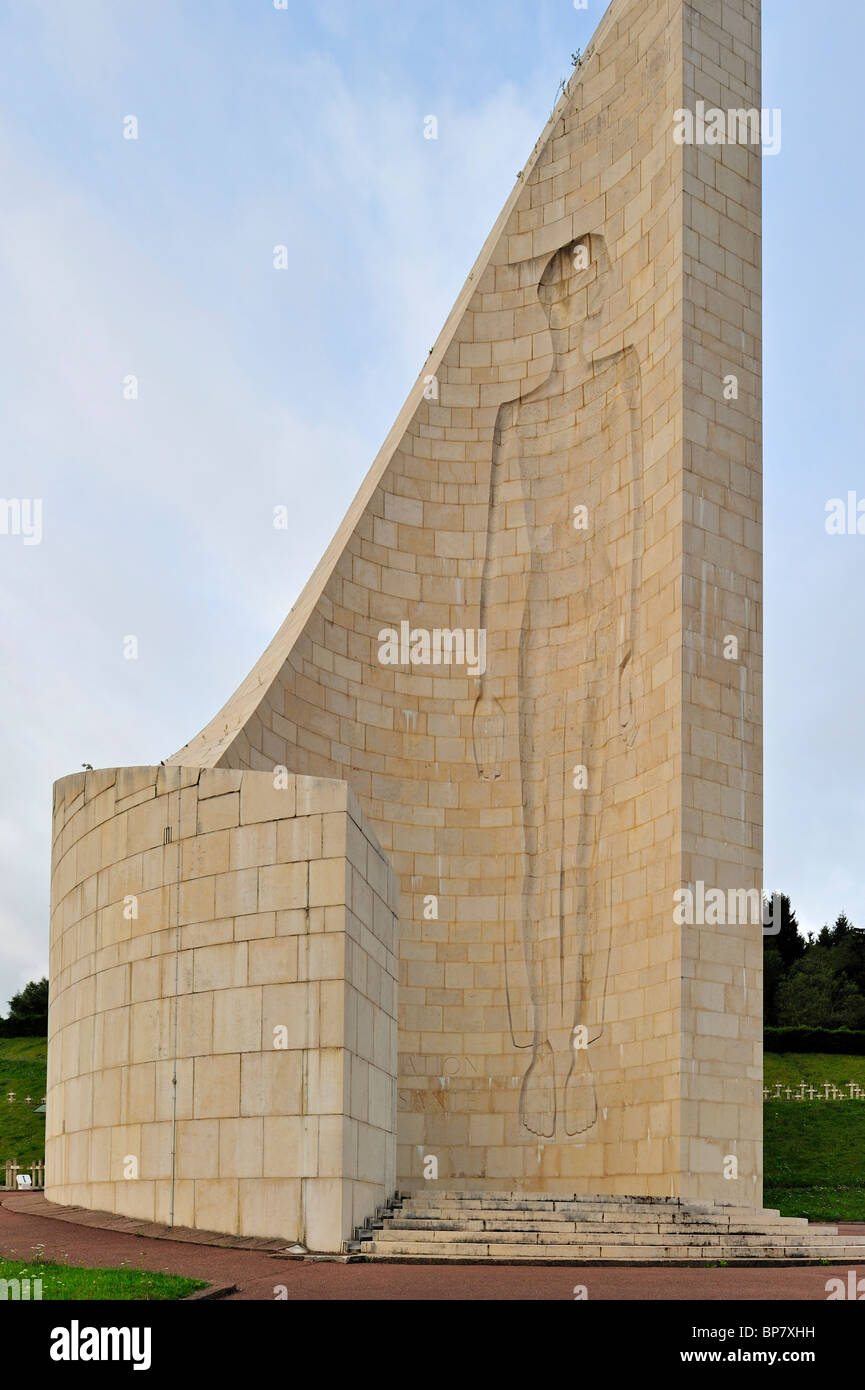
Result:
<svg viewBox="0 0 865 1390"><path fill-rule="evenodd" d="M39 1204L43 1213L39 1213ZM467 1265L341 1265L274 1257L278 1241L242 1241L225 1248L232 1237L216 1236L221 1245L203 1244L206 1233L181 1233L184 1238L134 1234L93 1225L97 1212L70 1212L72 1218L45 1215L50 1204L39 1194L11 1195L0 1205L0 1254L32 1259L36 1247L49 1259L74 1265L154 1269L164 1273L236 1284L232 1300L388 1301L573 1301L574 1286L584 1286L590 1301L727 1300L826 1301L826 1280L847 1277L848 1265L814 1265L807 1269L627 1269L597 1266L484 1266ZM65 1212L65 1208L63 1209ZM82 1219L89 1218L89 1219ZM145 1222L104 1218L147 1229ZM164 1227L161 1227L164 1230ZM862 1234L865 1226L843 1225L840 1232ZM248 1248L252 1245L253 1248ZM261 1248L267 1247L267 1248ZM865 1276L865 1264L859 1277ZM282 1291L284 1290L284 1291Z"/></svg>

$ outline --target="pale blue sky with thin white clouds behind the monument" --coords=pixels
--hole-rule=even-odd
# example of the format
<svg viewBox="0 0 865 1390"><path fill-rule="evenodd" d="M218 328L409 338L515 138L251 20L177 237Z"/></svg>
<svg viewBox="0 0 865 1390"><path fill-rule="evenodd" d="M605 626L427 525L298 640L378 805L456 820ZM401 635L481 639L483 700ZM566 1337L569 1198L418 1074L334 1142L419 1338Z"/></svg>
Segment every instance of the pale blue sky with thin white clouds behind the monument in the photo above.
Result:
<svg viewBox="0 0 865 1390"><path fill-rule="evenodd" d="M0 7L0 496L42 499L0 535L0 1012L47 972L51 783L246 676L604 8ZM865 498L865 7L763 0L763 49L765 887L865 926L865 535L825 525Z"/></svg>

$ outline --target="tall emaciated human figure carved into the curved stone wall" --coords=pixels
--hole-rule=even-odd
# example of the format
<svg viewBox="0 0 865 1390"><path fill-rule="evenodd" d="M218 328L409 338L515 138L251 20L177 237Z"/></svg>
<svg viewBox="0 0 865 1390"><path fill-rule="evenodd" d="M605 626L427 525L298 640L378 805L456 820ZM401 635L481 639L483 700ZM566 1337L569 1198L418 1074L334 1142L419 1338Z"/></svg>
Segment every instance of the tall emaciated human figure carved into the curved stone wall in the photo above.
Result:
<svg viewBox="0 0 865 1390"><path fill-rule="evenodd" d="M520 1127L540 1138L597 1122L592 1045L627 830L616 788L640 735L641 379L636 350L605 343L615 291L598 235L549 260L538 297L552 371L499 409L490 482L474 759L498 780L513 728L523 852L508 1015L527 1055Z"/></svg>

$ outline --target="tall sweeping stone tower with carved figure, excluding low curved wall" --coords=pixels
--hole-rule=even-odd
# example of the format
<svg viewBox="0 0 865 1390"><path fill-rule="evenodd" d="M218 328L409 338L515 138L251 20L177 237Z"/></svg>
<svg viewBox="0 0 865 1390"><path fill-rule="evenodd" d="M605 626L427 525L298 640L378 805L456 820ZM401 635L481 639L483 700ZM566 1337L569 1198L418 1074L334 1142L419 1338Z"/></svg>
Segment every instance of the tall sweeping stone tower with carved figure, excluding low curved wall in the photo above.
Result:
<svg viewBox="0 0 865 1390"><path fill-rule="evenodd" d="M761 855L761 168L676 142L698 97L759 107L757 0L613 0L299 603L172 759L345 778L375 826L402 1187L432 1156L761 1200L761 929L674 912Z"/></svg>

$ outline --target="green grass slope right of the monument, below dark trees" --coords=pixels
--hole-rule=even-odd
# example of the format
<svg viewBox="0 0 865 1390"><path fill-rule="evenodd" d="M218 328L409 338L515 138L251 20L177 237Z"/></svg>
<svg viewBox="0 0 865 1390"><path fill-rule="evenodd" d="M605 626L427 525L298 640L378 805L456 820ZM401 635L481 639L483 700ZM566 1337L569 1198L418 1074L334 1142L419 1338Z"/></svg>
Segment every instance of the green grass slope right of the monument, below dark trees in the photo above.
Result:
<svg viewBox="0 0 865 1390"><path fill-rule="evenodd" d="M765 1084L865 1087L864 1056L766 1052ZM766 1101L763 1205L783 1216L865 1222L865 1101Z"/></svg>

